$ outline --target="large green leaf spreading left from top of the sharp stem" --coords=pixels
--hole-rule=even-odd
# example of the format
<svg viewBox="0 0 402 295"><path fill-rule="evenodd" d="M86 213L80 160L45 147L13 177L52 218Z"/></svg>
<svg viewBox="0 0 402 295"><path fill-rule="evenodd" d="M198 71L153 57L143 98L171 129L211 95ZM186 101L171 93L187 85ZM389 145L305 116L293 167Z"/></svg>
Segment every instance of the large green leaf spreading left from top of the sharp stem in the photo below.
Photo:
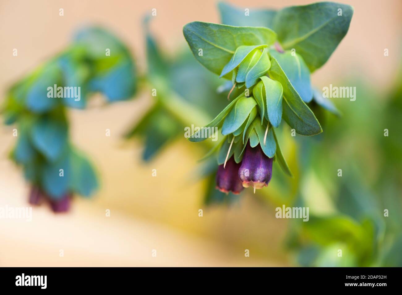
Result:
<svg viewBox="0 0 402 295"><path fill-rule="evenodd" d="M230 61L237 47L271 45L276 40L276 33L269 28L228 26L209 22L190 22L183 27L183 34L195 58L217 75ZM203 50L201 56L199 49Z"/></svg>

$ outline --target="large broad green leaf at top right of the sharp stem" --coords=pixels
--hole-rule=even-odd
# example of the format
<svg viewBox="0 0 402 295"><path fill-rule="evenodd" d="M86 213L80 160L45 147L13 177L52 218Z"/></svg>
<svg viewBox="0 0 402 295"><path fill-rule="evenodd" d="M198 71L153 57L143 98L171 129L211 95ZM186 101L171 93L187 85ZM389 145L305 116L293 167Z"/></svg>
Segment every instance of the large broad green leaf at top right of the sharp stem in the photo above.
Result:
<svg viewBox="0 0 402 295"><path fill-rule="evenodd" d="M273 30L282 47L296 49L313 72L326 63L345 37L352 15L352 6L334 2L291 6L277 12Z"/></svg>

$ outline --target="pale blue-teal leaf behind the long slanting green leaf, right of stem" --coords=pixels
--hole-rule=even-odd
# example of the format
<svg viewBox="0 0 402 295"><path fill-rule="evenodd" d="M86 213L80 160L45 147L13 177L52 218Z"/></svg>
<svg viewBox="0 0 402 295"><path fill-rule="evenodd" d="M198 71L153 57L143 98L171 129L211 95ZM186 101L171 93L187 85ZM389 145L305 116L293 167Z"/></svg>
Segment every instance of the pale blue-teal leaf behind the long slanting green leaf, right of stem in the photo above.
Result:
<svg viewBox="0 0 402 295"><path fill-rule="evenodd" d="M275 49L271 49L269 53L275 57L301 99L306 103L311 102L313 90L310 82L310 71L303 58L297 53L292 55L291 51L279 53Z"/></svg>

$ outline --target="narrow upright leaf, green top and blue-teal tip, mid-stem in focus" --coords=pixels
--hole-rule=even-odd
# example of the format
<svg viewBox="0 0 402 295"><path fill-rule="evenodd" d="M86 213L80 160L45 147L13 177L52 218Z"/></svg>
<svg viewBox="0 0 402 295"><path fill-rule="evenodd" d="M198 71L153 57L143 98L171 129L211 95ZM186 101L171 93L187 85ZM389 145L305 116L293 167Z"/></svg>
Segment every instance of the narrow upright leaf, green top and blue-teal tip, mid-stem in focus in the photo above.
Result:
<svg viewBox="0 0 402 295"><path fill-rule="evenodd" d="M267 102L267 114L272 126L278 127L282 119L283 87L278 81L267 76L261 77L265 89L265 101Z"/></svg>

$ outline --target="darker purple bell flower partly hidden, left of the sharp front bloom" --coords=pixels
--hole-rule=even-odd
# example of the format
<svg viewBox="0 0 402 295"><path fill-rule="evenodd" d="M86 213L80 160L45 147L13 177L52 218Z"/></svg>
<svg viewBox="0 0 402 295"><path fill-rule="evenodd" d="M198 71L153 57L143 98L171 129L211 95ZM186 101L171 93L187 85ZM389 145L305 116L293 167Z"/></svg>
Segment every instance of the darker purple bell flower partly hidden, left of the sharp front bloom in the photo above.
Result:
<svg viewBox="0 0 402 295"><path fill-rule="evenodd" d="M219 165L218 172L216 173L216 188L224 193L230 191L234 194L240 193L243 190L242 182L239 179L240 163L234 161L234 157L231 157L226 162L226 166Z"/></svg>

